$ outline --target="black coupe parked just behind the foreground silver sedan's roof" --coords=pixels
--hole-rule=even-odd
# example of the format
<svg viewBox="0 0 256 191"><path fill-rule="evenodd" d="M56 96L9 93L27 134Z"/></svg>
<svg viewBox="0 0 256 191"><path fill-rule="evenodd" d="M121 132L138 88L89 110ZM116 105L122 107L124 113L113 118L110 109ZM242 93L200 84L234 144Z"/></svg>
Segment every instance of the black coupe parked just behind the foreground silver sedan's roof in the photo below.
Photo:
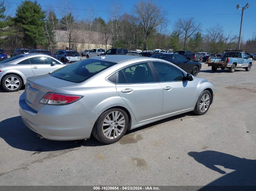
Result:
<svg viewBox="0 0 256 191"><path fill-rule="evenodd" d="M159 58L171 62L181 69L185 70L185 72L190 73L196 76L201 69L202 65L199 62L194 62L186 59L184 56L180 54L172 54L172 53L161 53L155 54L151 56L152 58Z"/></svg>

